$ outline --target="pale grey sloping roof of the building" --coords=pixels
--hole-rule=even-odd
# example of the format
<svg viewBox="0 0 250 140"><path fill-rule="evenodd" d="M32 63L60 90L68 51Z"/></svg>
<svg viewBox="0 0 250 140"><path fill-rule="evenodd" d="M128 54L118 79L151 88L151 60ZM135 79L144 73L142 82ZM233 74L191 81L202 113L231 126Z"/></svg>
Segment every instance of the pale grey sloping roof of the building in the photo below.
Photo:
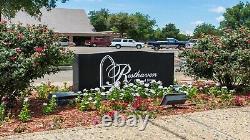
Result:
<svg viewBox="0 0 250 140"><path fill-rule="evenodd" d="M89 18L84 10L54 8L50 11L42 9L40 20L31 17L26 12L20 11L10 20L10 23L42 24L58 33L93 33L94 27L90 24Z"/></svg>

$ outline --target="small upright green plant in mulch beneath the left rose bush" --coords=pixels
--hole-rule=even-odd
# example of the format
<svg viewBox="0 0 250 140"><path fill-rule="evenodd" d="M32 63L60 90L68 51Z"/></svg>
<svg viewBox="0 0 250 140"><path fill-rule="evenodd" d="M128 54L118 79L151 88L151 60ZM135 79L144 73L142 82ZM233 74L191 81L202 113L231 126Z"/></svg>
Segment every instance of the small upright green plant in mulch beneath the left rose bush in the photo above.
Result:
<svg viewBox="0 0 250 140"><path fill-rule="evenodd" d="M18 117L22 122L27 122L28 120L31 119L28 98L25 98L23 100L23 107Z"/></svg>

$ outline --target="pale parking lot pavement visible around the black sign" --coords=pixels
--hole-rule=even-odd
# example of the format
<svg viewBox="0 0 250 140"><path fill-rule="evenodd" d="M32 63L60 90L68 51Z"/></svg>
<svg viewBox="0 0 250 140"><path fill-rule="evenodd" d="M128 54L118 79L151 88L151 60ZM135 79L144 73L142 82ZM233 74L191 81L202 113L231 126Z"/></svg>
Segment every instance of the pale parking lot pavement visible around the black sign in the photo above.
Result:
<svg viewBox="0 0 250 140"><path fill-rule="evenodd" d="M154 51L151 48L144 47L142 49L128 48L124 47L121 49L116 49L115 47L72 47L70 48L76 54L92 54L92 53L103 53L103 52L114 52L114 51L147 51L155 53L174 53L175 54L175 69L179 68L180 59L178 54L180 50L178 49L162 49L159 51ZM184 76L182 72L175 72L175 79L178 81L191 81L190 77ZM41 82L50 81L55 85L62 85L63 82L67 82L70 85L73 84L73 70L72 67L68 67L67 70L61 70L56 74L45 75L44 78L35 80L35 85Z"/></svg>

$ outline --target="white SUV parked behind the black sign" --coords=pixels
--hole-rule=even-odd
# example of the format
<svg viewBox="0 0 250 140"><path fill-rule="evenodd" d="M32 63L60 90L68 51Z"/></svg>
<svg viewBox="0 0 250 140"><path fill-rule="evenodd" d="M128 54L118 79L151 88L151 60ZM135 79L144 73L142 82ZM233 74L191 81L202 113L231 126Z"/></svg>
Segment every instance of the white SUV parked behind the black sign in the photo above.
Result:
<svg viewBox="0 0 250 140"><path fill-rule="evenodd" d="M116 38L112 40L110 46L116 47L117 49L120 49L121 47L136 47L137 49L141 49L144 47L144 43L136 42L133 39Z"/></svg>

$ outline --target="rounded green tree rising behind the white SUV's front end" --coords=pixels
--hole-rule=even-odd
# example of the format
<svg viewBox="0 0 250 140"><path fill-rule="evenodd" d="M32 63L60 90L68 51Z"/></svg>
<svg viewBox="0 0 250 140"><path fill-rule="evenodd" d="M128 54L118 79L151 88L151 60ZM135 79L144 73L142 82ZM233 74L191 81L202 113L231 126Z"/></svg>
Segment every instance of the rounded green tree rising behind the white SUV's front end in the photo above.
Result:
<svg viewBox="0 0 250 140"><path fill-rule="evenodd" d="M128 30L128 36L140 41L146 41L154 32L156 21L151 20L148 15L135 13L130 15L132 28Z"/></svg>

